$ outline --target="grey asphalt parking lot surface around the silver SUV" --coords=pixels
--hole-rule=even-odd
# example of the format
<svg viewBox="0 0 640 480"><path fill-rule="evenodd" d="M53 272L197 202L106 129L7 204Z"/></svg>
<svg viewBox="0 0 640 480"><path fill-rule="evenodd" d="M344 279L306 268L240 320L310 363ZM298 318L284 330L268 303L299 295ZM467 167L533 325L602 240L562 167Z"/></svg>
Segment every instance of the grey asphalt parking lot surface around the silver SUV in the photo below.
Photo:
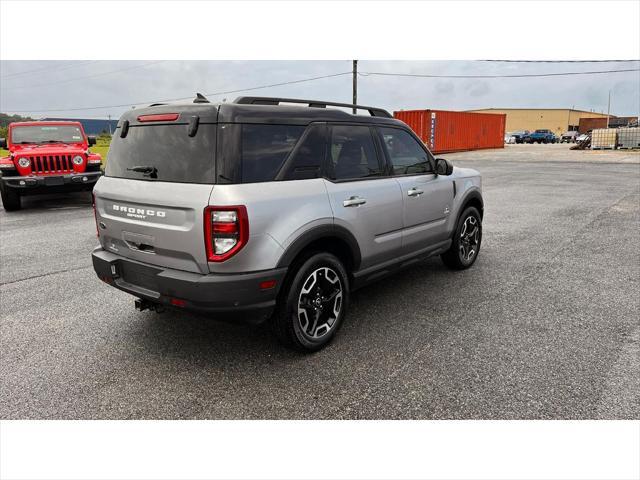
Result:
<svg viewBox="0 0 640 480"><path fill-rule="evenodd" d="M91 267L88 194L0 209L3 419L638 419L638 152L443 155L483 174L475 266L354 294L325 350L137 312Z"/></svg>

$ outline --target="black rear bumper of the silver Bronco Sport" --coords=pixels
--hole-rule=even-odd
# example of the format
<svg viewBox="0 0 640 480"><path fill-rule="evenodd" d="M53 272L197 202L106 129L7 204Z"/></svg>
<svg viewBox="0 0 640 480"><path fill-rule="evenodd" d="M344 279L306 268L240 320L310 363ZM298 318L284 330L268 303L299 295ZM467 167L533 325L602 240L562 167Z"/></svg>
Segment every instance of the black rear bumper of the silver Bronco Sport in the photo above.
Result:
<svg viewBox="0 0 640 480"><path fill-rule="evenodd" d="M102 281L131 295L160 305L247 320L271 315L287 272L286 268L278 268L205 275L137 262L102 247L97 247L91 256L93 268ZM261 289L260 284L269 280L275 280L275 287Z"/></svg>

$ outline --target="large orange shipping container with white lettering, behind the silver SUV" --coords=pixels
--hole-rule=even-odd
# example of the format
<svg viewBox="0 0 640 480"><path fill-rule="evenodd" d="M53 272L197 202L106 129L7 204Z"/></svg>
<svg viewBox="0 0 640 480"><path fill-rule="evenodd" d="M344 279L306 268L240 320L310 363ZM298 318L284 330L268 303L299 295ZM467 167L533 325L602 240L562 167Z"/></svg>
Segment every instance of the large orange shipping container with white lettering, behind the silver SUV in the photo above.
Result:
<svg viewBox="0 0 640 480"><path fill-rule="evenodd" d="M433 153L504 147L505 114L403 110L393 116L409 125Z"/></svg>

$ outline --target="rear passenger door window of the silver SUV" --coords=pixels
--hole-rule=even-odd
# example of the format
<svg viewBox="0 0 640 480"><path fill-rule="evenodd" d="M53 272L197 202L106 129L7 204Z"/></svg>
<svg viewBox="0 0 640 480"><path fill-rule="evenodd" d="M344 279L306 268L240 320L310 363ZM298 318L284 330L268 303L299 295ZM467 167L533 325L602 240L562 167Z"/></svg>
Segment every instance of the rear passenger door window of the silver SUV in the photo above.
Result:
<svg viewBox="0 0 640 480"><path fill-rule="evenodd" d="M383 174L371 129L367 126L331 126L328 153L328 175L333 180L354 180Z"/></svg>

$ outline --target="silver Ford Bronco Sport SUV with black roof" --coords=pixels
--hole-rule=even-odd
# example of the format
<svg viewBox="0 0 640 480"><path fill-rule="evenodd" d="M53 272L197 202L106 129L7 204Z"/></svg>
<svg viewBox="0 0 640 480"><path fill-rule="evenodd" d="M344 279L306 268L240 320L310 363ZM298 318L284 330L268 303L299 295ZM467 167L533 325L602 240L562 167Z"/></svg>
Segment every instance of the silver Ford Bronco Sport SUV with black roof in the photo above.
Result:
<svg viewBox="0 0 640 480"><path fill-rule="evenodd" d="M385 110L331 102L131 110L94 197L95 271L138 309L269 319L303 351L330 341L354 289L432 255L468 268L482 238L478 172Z"/></svg>

